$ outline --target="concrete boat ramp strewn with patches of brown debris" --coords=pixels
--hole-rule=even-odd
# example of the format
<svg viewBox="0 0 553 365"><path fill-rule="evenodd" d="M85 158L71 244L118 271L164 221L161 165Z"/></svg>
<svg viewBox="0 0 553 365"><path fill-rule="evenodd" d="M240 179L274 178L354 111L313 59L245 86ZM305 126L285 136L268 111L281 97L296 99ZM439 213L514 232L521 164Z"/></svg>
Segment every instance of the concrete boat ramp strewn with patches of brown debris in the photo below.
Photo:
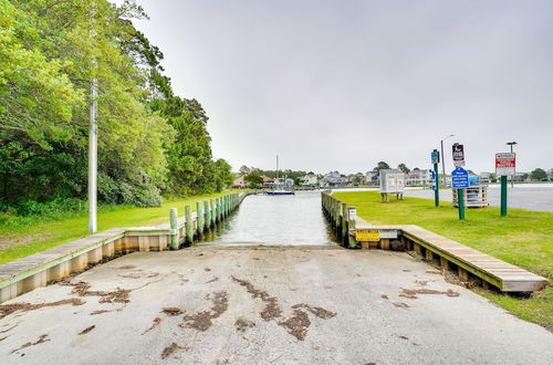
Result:
<svg viewBox="0 0 553 365"><path fill-rule="evenodd" d="M551 364L553 334L429 269L337 247L136 252L1 305L0 363Z"/></svg>

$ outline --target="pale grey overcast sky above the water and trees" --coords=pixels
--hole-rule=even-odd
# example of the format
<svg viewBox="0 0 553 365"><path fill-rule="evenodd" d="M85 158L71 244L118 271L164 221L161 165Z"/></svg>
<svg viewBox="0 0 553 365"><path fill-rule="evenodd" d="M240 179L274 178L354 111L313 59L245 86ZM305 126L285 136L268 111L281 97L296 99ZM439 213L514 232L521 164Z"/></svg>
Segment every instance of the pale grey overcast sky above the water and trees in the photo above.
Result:
<svg viewBox="0 0 553 365"><path fill-rule="evenodd" d="M446 140L493 171L553 168L553 1L137 0L216 157L325 173L430 168Z"/></svg>

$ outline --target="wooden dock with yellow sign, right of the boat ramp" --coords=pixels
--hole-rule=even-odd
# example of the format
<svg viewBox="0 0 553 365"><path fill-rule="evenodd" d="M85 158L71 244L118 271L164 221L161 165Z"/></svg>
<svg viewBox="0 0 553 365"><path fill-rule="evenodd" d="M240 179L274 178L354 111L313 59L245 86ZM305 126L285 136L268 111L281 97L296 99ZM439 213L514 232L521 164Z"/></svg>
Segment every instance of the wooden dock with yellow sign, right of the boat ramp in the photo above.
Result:
<svg viewBox="0 0 553 365"><path fill-rule="evenodd" d="M545 278L418 226L373 226L356 216L355 207L328 191L323 192L323 210L348 248L388 250L390 240L397 240L428 262L456 272L461 280L474 279L484 288L492 285L502 292L534 292L549 283Z"/></svg>

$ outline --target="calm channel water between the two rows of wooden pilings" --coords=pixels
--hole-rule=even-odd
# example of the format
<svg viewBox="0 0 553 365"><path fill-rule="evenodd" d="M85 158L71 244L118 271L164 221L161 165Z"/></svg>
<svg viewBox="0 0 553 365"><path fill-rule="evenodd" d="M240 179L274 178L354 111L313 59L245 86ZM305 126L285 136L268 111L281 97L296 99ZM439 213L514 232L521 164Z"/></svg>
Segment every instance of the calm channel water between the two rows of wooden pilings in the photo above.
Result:
<svg viewBox="0 0 553 365"><path fill-rule="evenodd" d="M336 239L323 216L321 191L255 195L199 244L325 246Z"/></svg>

